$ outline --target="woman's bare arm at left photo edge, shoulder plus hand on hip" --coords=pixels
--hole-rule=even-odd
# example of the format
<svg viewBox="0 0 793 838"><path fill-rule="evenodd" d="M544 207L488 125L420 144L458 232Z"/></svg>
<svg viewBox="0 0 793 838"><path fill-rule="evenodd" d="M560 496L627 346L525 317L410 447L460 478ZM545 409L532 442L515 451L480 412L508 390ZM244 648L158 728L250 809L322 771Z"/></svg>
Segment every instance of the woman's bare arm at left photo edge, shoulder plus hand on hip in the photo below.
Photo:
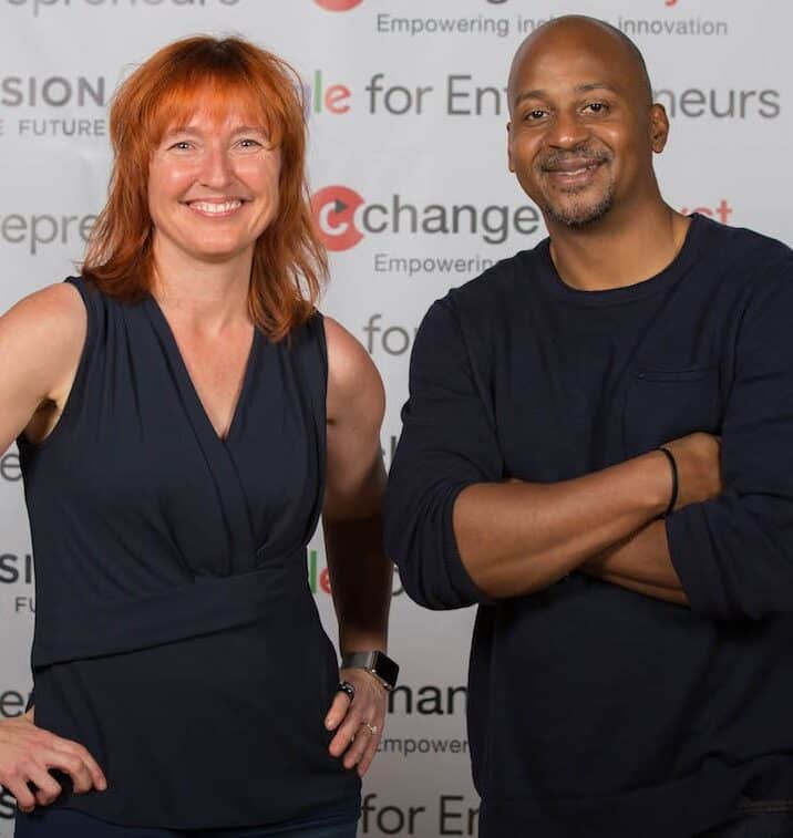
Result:
<svg viewBox="0 0 793 838"><path fill-rule="evenodd" d="M85 308L66 283L37 291L0 317L0 454L23 431L40 441L54 427L74 381L85 331ZM0 784L20 809L45 806L60 795L51 768L68 774L79 793L107 786L91 754L37 727L32 711L0 721Z"/></svg>

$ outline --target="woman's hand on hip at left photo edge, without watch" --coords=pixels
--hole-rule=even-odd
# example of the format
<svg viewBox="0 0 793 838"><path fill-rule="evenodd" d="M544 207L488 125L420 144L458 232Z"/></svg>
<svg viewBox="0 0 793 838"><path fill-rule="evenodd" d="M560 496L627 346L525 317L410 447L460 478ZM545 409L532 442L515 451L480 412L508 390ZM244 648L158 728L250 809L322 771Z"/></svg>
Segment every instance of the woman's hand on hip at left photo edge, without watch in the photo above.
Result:
<svg viewBox="0 0 793 838"><path fill-rule="evenodd" d="M51 768L68 774L78 794L107 788L102 769L87 749L37 727L32 711L0 722L0 784L17 798L22 811L48 806L61 794Z"/></svg>

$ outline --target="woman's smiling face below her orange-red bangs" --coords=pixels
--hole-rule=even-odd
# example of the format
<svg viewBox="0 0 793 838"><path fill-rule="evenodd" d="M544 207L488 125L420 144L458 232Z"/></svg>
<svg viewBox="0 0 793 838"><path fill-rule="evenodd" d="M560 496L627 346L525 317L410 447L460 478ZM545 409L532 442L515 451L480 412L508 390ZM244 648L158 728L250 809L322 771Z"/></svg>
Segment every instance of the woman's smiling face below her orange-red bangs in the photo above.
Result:
<svg viewBox="0 0 793 838"><path fill-rule="evenodd" d="M280 152L267 130L229 107L200 107L154 149L148 210L154 247L200 261L248 251L278 210Z"/></svg>

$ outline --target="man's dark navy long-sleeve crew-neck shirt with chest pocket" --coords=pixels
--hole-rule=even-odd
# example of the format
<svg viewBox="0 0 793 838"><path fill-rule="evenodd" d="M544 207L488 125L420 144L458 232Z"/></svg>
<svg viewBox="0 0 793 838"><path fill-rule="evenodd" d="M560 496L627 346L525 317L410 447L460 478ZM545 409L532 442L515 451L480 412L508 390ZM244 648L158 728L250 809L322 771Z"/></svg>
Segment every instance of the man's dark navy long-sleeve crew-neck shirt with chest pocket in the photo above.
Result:
<svg viewBox="0 0 793 838"><path fill-rule="evenodd" d="M481 835L677 838L793 798L793 255L694 216L678 257L580 291L547 240L416 337L387 547L430 608L480 604L468 727ZM552 483L694 431L724 492L667 519L690 608L571 573L492 601L457 551L468 485ZM639 826L640 825L640 826Z"/></svg>

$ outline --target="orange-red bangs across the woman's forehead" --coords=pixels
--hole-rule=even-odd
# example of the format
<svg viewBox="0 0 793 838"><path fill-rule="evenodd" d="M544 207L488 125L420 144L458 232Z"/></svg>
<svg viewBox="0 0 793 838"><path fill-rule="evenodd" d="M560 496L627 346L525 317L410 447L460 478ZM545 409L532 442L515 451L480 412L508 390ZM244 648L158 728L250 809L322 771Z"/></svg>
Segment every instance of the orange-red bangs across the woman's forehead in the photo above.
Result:
<svg viewBox="0 0 793 838"><path fill-rule="evenodd" d="M279 92L237 74L205 72L172 77L147 105L144 135L152 148L169 131L188 125L197 113L217 122L231 113L239 114L249 125L264 128L271 147L279 146L284 138L285 103Z"/></svg>

